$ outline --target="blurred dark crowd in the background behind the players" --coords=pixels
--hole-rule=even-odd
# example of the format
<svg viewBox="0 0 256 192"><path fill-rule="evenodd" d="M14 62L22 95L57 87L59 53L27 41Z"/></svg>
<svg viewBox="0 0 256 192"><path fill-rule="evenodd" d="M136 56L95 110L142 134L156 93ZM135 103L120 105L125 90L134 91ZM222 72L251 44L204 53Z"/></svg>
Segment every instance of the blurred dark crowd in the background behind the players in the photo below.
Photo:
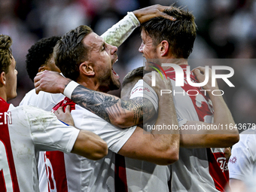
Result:
<svg viewBox="0 0 256 192"><path fill-rule="evenodd" d="M40 38L63 35L79 25L90 26L102 35L127 11L148 5L172 5L192 11L198 27L192 68L231 66L235 88L220 82L236 123L255 123L256 117L256 1L254 0L0 0L0 34L10 35L17 60L18 96L10 102L18 105L34 88L26 73L26 53ZM143 65L139 29L118 49L115 71L123 79L127 72ZM200 61L200 62L197 62ZM202 61L204 63L202 63ZM190 61L189 61L190 63ZM113 91L119 96L120 90Z"/></svg>

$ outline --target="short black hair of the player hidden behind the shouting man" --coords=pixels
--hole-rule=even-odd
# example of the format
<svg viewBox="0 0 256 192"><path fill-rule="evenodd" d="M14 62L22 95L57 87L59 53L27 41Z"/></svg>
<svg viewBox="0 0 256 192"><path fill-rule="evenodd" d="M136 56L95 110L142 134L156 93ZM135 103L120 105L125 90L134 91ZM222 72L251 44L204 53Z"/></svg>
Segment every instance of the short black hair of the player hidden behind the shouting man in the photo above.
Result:
<svg viewBox="0 0 256 192"><path fill-rule="evenodd" d="M60 38L60 36L41 38L29 48L29 53L26 54L26 72L32 81L34 81L38 69L46 65L48 59L53 55L53 48Z"/></svg>

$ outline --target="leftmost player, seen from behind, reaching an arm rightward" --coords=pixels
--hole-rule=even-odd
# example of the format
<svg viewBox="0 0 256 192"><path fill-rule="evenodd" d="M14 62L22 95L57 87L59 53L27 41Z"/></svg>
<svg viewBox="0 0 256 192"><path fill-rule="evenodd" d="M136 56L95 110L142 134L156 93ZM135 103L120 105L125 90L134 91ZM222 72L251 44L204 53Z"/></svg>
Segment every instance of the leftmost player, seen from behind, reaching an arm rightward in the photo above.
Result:
<svg viewBox="0 0 256 192"><path fill-rule="evenodd" d="M67 126L50 112L7 103L17 96L16 61L11 44L8 35L0 35L1 190L39 191L38 151L71 152L99 160L108 153L107 145L96 134Z"/></svg>

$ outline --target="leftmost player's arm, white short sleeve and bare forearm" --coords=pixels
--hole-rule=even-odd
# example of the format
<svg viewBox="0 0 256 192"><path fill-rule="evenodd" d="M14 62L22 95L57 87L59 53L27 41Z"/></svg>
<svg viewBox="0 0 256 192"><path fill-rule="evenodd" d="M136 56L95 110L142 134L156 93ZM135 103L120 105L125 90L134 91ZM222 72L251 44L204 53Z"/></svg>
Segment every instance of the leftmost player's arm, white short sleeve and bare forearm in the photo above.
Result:
<svg viewBox="0 0 256 192"><path fill-rule="evenodd" d="M68 126L53 113L40 108L24 106L23 111L26 116L22 119L27 120L38 150L72 152L91 160L99 160L108 154L108 145L95 133Z"/></svg>

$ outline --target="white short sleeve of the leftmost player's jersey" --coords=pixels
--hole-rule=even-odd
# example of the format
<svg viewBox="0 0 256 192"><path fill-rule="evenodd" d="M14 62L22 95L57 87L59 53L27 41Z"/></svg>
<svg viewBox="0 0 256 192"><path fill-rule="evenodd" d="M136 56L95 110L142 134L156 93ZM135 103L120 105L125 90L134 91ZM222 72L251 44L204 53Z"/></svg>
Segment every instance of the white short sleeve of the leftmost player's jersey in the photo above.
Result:
<svg viewBox="0 0 256 192"><path fill-rule="evenodd" d="M32 141L40 151L62 151L69 153L75 144L80 130L58 120L55 114L24 106L29 120Z"/></svg>

